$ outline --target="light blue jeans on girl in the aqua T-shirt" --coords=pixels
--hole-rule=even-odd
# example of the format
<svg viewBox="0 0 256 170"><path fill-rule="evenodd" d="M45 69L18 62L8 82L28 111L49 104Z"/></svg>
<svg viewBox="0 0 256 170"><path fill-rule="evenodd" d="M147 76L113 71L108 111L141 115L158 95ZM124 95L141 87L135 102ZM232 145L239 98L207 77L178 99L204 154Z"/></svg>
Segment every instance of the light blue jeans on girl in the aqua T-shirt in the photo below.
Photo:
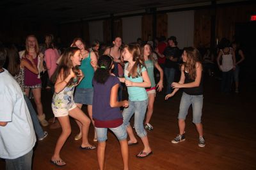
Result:
<svg viewBox="0 0 256 170"><path fill-rule="evenodd" d="M125 108L123 111L124 125L128 127L130 125L130 119L134 114L134 128L137 135L142 138L147 135L144 128L143 121L145 118L146 110L148 106L148 99L143 101L130 101L129 107Z"/></svg>

